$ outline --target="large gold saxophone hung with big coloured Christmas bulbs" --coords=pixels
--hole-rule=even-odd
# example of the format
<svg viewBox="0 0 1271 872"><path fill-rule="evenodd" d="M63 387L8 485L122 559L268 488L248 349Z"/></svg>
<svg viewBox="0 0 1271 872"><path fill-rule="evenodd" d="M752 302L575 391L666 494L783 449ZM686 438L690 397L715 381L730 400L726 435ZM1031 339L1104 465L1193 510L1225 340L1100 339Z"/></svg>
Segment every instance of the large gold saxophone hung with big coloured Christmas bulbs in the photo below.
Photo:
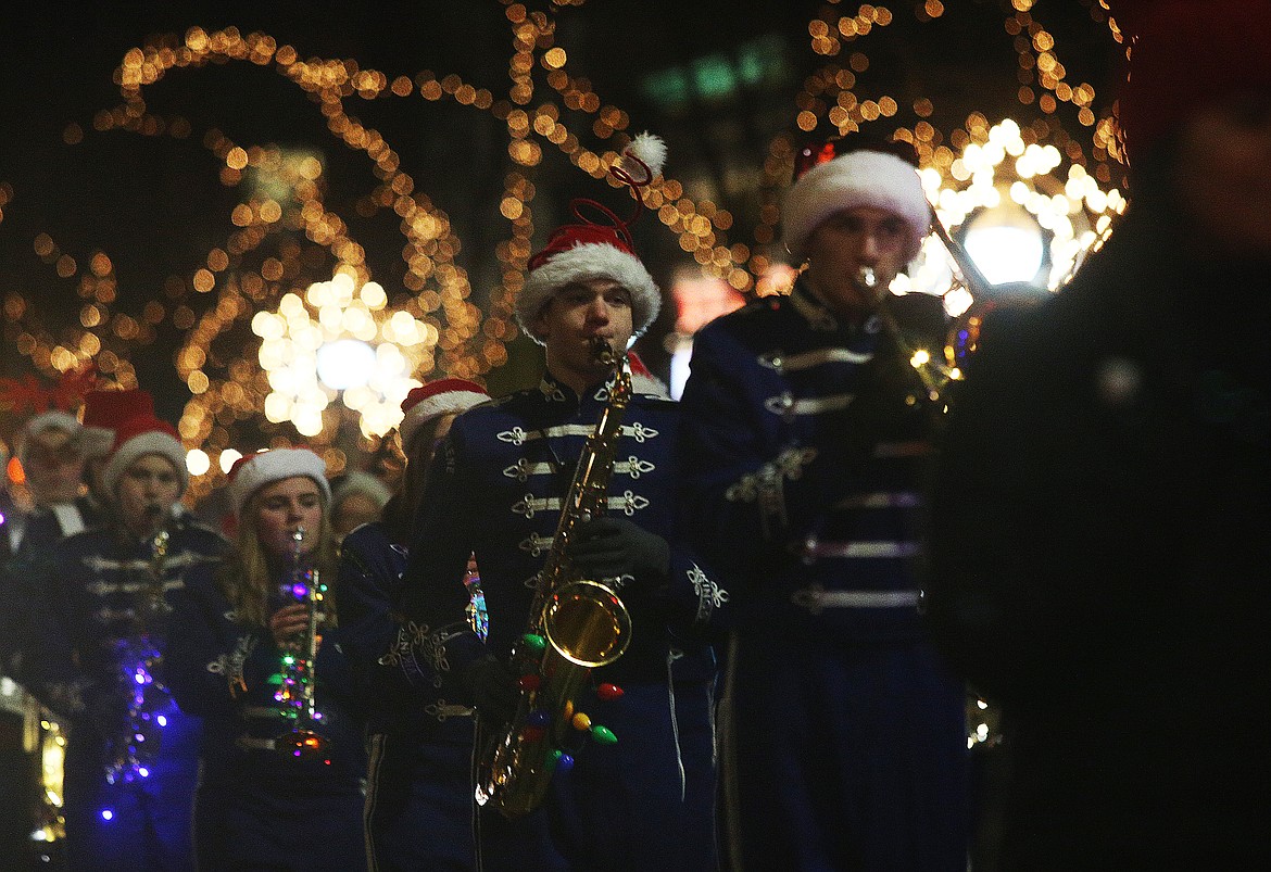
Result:
<svg viewBox="0 0 1271 872"><path fill-rule="evenodd" d="M609 400L587 439L561 510L555 535L538 576L529 628L512 650L521 676L521 698L512 722L496 735L478 768L477 802L492 803L515 819L534 811L547 794L555 770L573 765L564 750L572 730L601 742L614 735L574 711L574 697L597 666L618 660L630 642L630 615L613 589L580 578L569 561L574 530L605 511L622 421L630 402L632 375L627 355L618 355L597 337L592 353L614 369ZM622 693L601 685L602 698Z"/></svg>

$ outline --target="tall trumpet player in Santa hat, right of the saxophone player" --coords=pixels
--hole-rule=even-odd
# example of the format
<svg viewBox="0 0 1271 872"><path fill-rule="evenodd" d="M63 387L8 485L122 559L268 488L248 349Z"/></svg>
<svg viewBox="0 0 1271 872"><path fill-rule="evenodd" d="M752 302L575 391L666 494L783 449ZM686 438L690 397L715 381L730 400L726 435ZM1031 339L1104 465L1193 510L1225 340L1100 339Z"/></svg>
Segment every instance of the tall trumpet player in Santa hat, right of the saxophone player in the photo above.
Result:
<svg viewBox="0 0 1271 872"><path fill-rule="evenodd" d="M732 594L723 850L736 869L960 872L963 688L911 566L932 416L891 327L942 314L887 291L930 207L905 144L802 159L794 287L703 328L681 400L683 524Z"/></svg>

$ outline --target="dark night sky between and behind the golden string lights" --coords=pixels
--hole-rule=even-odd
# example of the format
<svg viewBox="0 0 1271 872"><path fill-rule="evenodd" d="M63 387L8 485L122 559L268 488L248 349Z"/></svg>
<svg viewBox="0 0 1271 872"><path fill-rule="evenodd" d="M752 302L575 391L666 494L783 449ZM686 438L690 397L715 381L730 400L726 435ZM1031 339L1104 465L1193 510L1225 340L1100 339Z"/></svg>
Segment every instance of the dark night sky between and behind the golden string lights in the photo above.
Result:
<svg viewBox="0 0 1271 872"><path fill-rule="evenodd" d="M1102 15L1092 15L1093 1L1038 0L1032 14L1055 34L1068 80L1096 86L1094 108L1102 116L1115 95L1120 47ZM871 65L859 75L857 90L892 94L901 107L895 118L880 122L880 130L913 125L909 107L920 97L933 102L930 121L943 131L962 125L972 111L990 121L1007 114L1024 121L1040 113L1036 106L1021 107L1016 100L1017 56L1013 37L1003 28L1010 10L1007 0L947 0L943 15L925 23L914 11L921 4L913 0L881 5L894 13L891 25L845 43L833 58L845 64L850 51L868 53ZM667 175L684 182L686 193L709 197L736 216L728 244L752 244L750 231L759 211L756 168L773 137L793 130L794 97L805 78L830 60L810 50L808 22L824 9L843 14L857 8L808 0L588 0L578 6L526 6L549 10L557 19L554 44L567 50L567 69L587 76L604 103L628 112L628 133L648 128L667 140ZM76 257L81 269L92 252L109 254L119 280L117 311L136 315L147 300L161 297L168 276L188 277L211 248L224 244L230 210L240 201L239 191L217 181L221 164L202 145L208 128L243 145L320 149L329 186L324 202L348 222L351 235L367 250L372 276L391 297L402 291L403 272L403 238L394 216L385 211L361 219L352 207L376 183L369 161L338 142L318 104L271 66L233 62L179 69L149 86L145 97L151 112L189 119L193 132L184 140L98 132L93 116L121 103L111 76L130 47L142 44L147 34L180 34L191 25L208 32L235 25L244 34L263 31L280 44L295 46L301 57L355 58L389 80L414 78L425 69L438 78L456 72L498 99L507 93L512 53L505 13L497 0L141 0L32 4L20 13L5 13L0 20L0 184L10 186L11 198L8 203L0 198L0 299L20 292L31 304L28 315L53 336L76 325L83 301L75 280L60 278L36 254L33 240L41 233ZM691 69L704 57L738 65L747 52L769 61L760 81L679 99L660 97L652 86L660 75ZM541 81L541 70L538 74L531 106L559 102ZM418 94L375 102L355 97L346 107L384 133L418 189L450 215L463 240L456 261L469 273L473 301L482 305L483 289L498 276L493 248L508 234L497 211L503 175L512 168L503 122L488 111L452 100L427 102ZM64 131L72 122L84 130L84 139L67 145ZM596 140L588 126L571 126L587 147L602 151L620 142ZM1075 122L1068 127L1088 144L1089 128ZM544 149L541 165L527 174L538 188L535 247L568 217L569 197L614 197L550 147ZM663 287L675 266L691 264L675 234L656 221L641 225L637 242ZM196 309L214 301L215 294L188 300ZM641 346L655 369L665 364L657 336L672 320L674 314L665 313ZM5 376L31 371L31 360L14 347L14 336L10 327L0 348ZM137 347L132 356L140 383L156 394L159 411L169 419L180 414L188 399L173 365L179 342L180 330L167 320L156 327L154 342ZM510 372L515 374L531 350L517 339L510 352ZM492 372L492 388L503 378ZM13 425L5 421L0 435L10 436Z"/></svg>

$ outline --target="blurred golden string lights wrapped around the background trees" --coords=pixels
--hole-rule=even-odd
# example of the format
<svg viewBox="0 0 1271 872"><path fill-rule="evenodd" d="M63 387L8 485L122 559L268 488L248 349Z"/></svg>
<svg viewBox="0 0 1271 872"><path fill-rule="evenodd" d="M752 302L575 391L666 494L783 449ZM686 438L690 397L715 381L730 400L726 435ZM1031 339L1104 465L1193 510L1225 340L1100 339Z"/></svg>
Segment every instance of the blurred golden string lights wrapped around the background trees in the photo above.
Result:
<svg viewBox="0 0 1271 872"><path fill-rule="evenodd" d="M258 423L262 411L269 422L264 428L272 445L290 444L294 428L324 453L333 474L343 469L347 459L333 439L344 412L332 402L334 392L322 389L323 403L313 393L313 385L306 385L304 395L309 402L301 402L302 394L294 390L296 371L289 369L297 347L313 344L314 330L322 330L323 341L338 341L342 336L356 336L358 329L362 336L374 329L379 347L391 346L400 355L405 378L381 386L374 402L364 403L379 412L358 416L362 435L371 445L376 436L395 426L389 409L398 393L418 384L414 379L432 372L479 378L503 364L505 346L516 336L512 304L524 285L531 252L536 196L533 178L544 147L554 146L583 173L614 184L606 169L622 142L602 151L588 149L563 117L568 112L590 122L588 132L601 142L625 140L630 119L623 109L605 104L586 78L567 70L568 55L555 44L554 19L549 14L530 11L511 0L501 3L512 41L506 98L496 98L489 89L455 74L438 76L423 70L413 78L389 79L379 70L360 69L351 60L301 60L295 47L280 46L263 33L243 36L235 28L206 32L194 27L183 37L161 36L126 52L114 74L123 103L103 109L92 122L95 133L125 131L187 139L194 135L187 119L149 111L147 86L173 70L214 62L272 66L316 98L327 127L338 141L365 155L377 184L358 200L356 211L370 217L391 210L400 219L405 292L390 295L375 283L365 250L350 236L344 221L324 207L324 168L319 156L290 154L275 146L243 146L214 128L202 135L202 144L220 164L220 182L244 191L243 202L230 216L233 229L224 245L207 252L205 263L191 275L169 277L164 300L147 301L133 315L112 306L118 280L107 253L89 253L86 268L81 268L74 254L64 252L50 234L41 234L34 243L37 255L58 278L76 283L84 304L79 325L58 330L39 320L31 300L10 291L4 300L4 315L15 327L18 350L46 375L66 372L93 360L103 375L122 386L135 386L131 355L150 344L165 320L182 330L184 342L175 365L191 399L179 428L187 447L197 451L192 454L192 459L198 458L192 461L193 498L211 489L228 461L236 456L238 422ZM577 6L582 0L557 0L554 5ZM843 5L829 0L808 25L811 50L830 60L805 80L794 98L797 127L808 135L841 135L868 125L895 125L891 132L918 149L924 186L951 229L975 210L996 205L1005 188L1012 201L1052 233L1051 281L1061 281L1082 250L1107 233L1125 200L1112 186L1120 168L1112 119L1094 114L1092 85L1074 86L1066 81L1068 71L1054 36L1032 17L1032 0L1012 0L1004 32L1017 55L1021 107L1036 106L1040 117L1023 125L1009 118L990 123L974 112L947 135L930 123L935 107L928 98L914 100L910 107L914 121L906 126L892 121L902 114L895 97L858 93L862 89L857 80L869 67L864 42L888 28L895 14L871 4L848 14ZM938 0L925 0L914 4L914 13L925 22L944 15L946 10ZM1094 6L1091 14L1121 41L1106 9ZM536 93L535 67L541 67L549 89L545 95ZM488 112L507 130L512 169L503 179L500 212L508 224L508 234L496 247L500 281L489 291L486 311L469 301L468 276L455 263L460 240L451 231L446 214L417 191L416 181L402 169L400 156L384 136L362 125L348 107L352 100L407 99L416 94L430 102L452 100ZM1080 137L1068 133L1061 118L1065 104L1075 109L1077 125L1089 128L1088 147ZM70 123L64 133L67 145L76 145L84 137L85 131L78 123ZM675 178L656 182L646 203L676 234L680 248L693 255L704 275L740 292L780 292L788 285L789 271L782 269L784 255L774 245L779 193L789 181L794 147L791 135L779 135L770 142L763 165L761 207L750 244L730 244L733 216L709 200L685 196L683 183ZM1061 170L1061 179L1055 179L1055 170ZM1049 191L1042 189L1046 184ZM14 196L11 184L0 183L0 221ZM295 233L302 234L309 245L295 242ZM273 248L267 249L267 243ZM322 262L315 250L324 253ZM910 278L913 289L935 287L943 281L941 269L948 268L942 253L928 250L925 255ZM319 276L322 271L327 271L325 278ZM342 287L339 314L324 319L323 305L314 300L311 289L333 283ZM206 304L196 314L191 297L214 291L215 305ZM336 320L339 324L333 328ZM356 328L356 323L362 327ZM296 337L305 338L297 343ZM230 338L244 343L259 339L261 353L255 360L241 355L230 360L216 353L214 343ZM282 338L292 343L290 350L277 346L269 350L271 341ZM283 361L287 355L291 358ZM271 360L276 366L266 365ZM283 371L290 375L280 375ZM346 408L352 408L350 398L344 399ZM320 407L316 413L315 407ZM289 428L285 422L291 422L294 408L301 409L302 423L292 422ZM212 456L219 456L220 463L212 463Z"/></svg>

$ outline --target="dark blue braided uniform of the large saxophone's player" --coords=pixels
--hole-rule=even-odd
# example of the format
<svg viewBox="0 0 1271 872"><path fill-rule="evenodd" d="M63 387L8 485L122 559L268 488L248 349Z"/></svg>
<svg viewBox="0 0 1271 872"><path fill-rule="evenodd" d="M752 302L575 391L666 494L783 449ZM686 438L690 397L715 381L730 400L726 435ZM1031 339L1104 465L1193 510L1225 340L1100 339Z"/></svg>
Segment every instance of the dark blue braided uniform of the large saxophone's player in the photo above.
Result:
<svg viewBox="0 0 1271 872"><path fill-rule="evenodd" d="M487 651L506 658L525 632L563 496L608 400L545 376L536 389L461 414L442 445L421 501L405 587L405 620L388 658L412 686L409 718L445 717L470 704L459 680ZM671 543L669 590L628 603L632 641L592 684L625 691L601 700L583 690L578 709L618 742L583 742L577 763L553 777L544 807L506 820L478 815L482 868L709 869L713 850L713 675L700 632L723 592L677 547L675 403L634 394L627 408L608 514ZM475 553L489 613L482 642L469 625L460 578ZM580 733L582 736L583 733ZM483 742L478 741L478 754Z"/></svg>

